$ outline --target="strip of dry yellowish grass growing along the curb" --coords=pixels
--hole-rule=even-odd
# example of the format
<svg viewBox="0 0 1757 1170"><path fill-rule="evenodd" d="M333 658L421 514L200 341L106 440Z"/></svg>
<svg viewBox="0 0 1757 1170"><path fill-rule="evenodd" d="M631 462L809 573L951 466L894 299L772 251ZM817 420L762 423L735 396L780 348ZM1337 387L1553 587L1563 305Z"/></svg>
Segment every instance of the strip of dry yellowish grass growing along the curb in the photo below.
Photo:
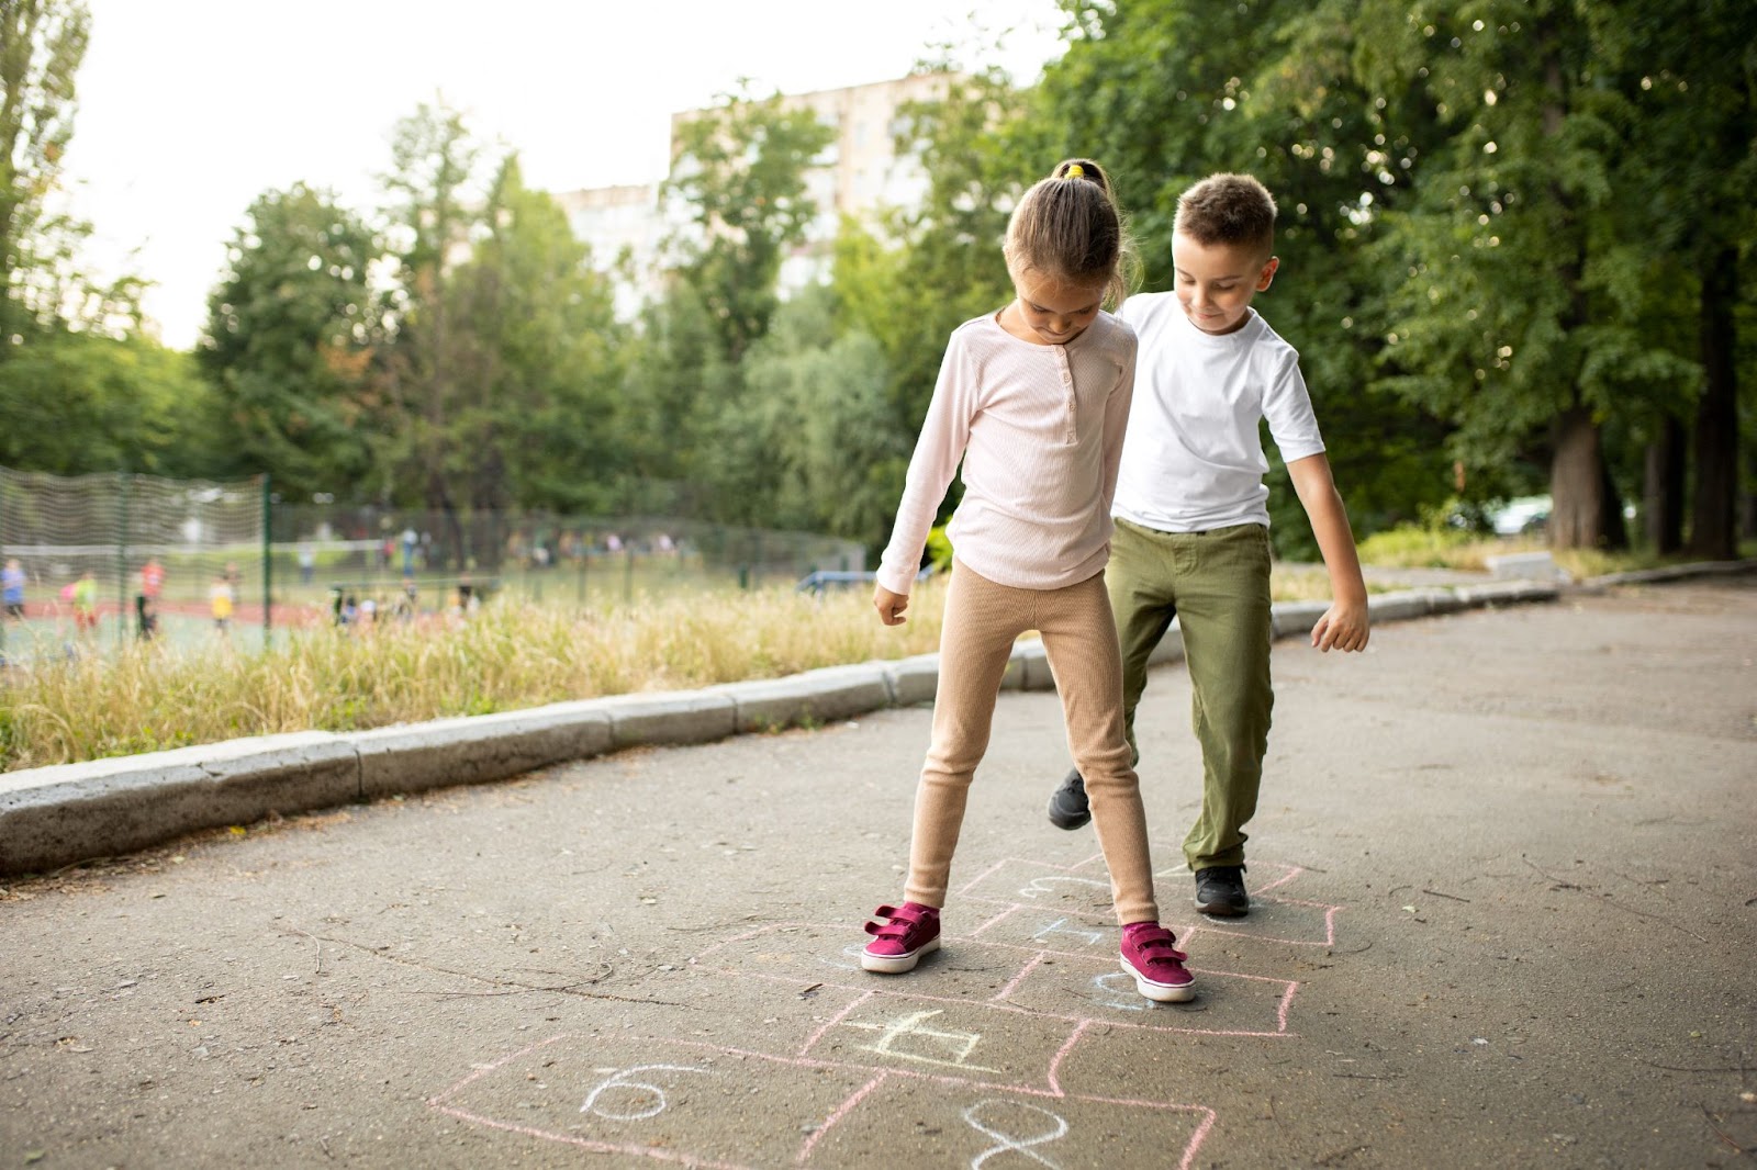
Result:
<svg viewBox="0 0 1757 1170"><path fill-rule="evenodd" d="M1321 571L1277 569L1277 601L1327 597ZM722 592L606 610L492 604L353 634L288 632L262 654L132 645L0 673L0 769L286 731L353 731L636 690L777 678L938 648L944 587L886 629L863 590Z"/></svg>

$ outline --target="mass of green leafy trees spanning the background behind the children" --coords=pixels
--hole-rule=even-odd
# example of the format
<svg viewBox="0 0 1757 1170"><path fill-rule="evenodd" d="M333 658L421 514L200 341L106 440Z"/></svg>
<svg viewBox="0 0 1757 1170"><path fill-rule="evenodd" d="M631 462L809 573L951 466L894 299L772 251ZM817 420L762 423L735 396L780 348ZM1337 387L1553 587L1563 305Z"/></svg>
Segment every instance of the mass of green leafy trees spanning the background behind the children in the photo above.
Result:
<svg viewBox="0 0 1757 1170"><path fill-rule="evenodd" d="M0 0L0 462L877 546L945 339L1012 295L1014 200L1084 155L1147 290L1189 183L1276 193L1256 306L1302 353L1358 532L1548 487L1553 538L1602 546L1641 492L1662 548L1731 555L1757 487L1748 4L1061 7L1066 53L1030 90L936 67L944 98L896 126L924 197L843 220L829 253L817 114L745 90L683 119L661 188L683 230L634 321L517 158L422 105L381 214L300 184L251 204L192 364L141 334L135 278L83 271L90 225L56 202L84 9ZM787 264L826 255L799 288ZM1284 469L1270 485L1279 550L1309 555Z"/></svg>

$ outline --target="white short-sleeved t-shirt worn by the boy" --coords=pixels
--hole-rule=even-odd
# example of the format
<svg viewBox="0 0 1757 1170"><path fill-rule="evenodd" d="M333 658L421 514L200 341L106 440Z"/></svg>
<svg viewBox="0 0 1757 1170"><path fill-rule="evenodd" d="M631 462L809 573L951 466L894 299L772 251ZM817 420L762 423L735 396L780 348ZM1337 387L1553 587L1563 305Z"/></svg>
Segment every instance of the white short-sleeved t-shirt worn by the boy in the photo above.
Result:
<svg viewBox="0 0 1757 1170"><path fill-rule="evenodd" d="M1121 318L1140 357L1112 515L1160 532L1267 527L1262 422L1286 462L1323 451L1298 351L1254 309L1205 334L1175 293L1130 297Z"/></svg>

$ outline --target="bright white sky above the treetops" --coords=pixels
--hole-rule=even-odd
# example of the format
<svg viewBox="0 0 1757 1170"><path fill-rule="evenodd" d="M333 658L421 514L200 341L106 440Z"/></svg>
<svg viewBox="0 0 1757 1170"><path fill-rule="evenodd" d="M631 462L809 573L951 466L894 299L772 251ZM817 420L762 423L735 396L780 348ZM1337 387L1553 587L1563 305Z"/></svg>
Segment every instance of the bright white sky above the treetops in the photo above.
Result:
<svg viewBox="0 0 1757 1170"><path fill-rule="evenodd" d="M903 77L936 46L1035 79L1054 0L86 0L67 151L86 267L137 272L162 341L195 343L249 204L307 183L380 204L392 126L423 102L566 191L664 177L671 114ZM1012 32L1007 32L1012 30ZM1005 35L1001 35L1005 33ZM996 37L998 47L996 47Z"/></svg>

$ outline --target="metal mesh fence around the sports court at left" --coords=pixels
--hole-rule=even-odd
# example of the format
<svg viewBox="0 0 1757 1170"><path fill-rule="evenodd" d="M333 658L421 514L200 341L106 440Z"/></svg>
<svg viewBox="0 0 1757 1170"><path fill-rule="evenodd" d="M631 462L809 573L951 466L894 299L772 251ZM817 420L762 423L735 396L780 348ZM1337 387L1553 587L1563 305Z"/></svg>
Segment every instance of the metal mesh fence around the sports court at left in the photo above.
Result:
<svg viewBox="0 0 1757 1170"><path fill-rule="evenodd" d="M866 553L857 541L678 516L285 504L267 478L0 467L0 566L23 578L14 629L72 624L88 641L121 641L141 634L142 604L162 624L207 624L221 594L230 624L265 632L339 617L350 601L404 611L494 597L613 606L791 585L813 573L861 573Z"/></svg>

